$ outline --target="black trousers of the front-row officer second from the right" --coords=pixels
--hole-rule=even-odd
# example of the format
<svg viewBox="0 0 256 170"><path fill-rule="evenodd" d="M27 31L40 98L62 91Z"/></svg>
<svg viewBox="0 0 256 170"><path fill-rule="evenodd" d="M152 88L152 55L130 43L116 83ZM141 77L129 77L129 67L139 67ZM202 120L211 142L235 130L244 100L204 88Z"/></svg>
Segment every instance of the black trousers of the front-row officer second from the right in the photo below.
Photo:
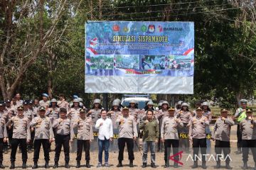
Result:
<svg viewBox="0 0 256 170"><path fill-rule="evenodd" d="M216 162L220 163L221 153L224 154L224 159L226 163L230 162L230 157L227 157L230 154L230 142L229 141L221 141L215 140L215 154L216 154Z"/></svg>

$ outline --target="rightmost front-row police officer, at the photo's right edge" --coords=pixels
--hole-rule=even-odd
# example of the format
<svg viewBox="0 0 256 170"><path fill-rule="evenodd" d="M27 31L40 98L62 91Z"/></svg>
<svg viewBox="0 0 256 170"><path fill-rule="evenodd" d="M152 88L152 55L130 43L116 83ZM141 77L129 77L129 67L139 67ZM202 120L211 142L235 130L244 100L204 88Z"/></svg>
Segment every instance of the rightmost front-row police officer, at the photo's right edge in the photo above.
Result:
<svg viewBox="0 0 256 170"><path fill-rule="evenodd" d="M252 118L252 109L246 109L246 118L240 122L242 132L242 169L247 169L249 148L252 150L252 157L256 169L256 120Z"/></svg>

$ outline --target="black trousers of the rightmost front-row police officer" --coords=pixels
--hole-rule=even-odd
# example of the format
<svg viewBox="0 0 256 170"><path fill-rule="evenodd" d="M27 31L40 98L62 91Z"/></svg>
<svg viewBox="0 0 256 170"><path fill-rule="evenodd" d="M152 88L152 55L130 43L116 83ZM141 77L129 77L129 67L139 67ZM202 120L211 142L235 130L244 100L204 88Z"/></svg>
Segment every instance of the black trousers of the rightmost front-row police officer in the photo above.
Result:
<svg viewBox="0 0 256 170"><path fill-rule="evenodd" d="M248 161L249 148L252 150L253 161L256 164L256 140L242 140L242 161Z"/></svg>

